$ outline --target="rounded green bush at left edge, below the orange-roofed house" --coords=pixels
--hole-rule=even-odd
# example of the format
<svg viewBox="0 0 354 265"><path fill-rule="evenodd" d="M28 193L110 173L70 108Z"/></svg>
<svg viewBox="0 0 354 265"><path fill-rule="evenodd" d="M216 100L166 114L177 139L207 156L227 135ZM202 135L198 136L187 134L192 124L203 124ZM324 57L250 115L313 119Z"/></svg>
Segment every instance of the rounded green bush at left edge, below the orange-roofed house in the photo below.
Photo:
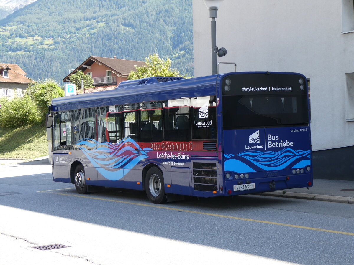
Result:
<svg viewBox="0 0 354 265"><path fill-rule="evenodd" d="M41 122L37 105L29 95L15 96L13 99L2 97L0 103L1 127L17 128Z"/></svg>

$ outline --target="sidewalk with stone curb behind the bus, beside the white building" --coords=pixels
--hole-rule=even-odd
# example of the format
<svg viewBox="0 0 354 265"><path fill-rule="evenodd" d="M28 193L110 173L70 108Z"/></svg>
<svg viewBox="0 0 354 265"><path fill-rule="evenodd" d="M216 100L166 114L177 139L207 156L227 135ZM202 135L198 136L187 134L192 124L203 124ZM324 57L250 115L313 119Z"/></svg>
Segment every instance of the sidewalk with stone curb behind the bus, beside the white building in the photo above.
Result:
<svg viewBox="0 0 354 265"><path fill-rule="evenodd" d="M314 179L313 187L259 193L264 196L354 204L354 181Z"/></svg>

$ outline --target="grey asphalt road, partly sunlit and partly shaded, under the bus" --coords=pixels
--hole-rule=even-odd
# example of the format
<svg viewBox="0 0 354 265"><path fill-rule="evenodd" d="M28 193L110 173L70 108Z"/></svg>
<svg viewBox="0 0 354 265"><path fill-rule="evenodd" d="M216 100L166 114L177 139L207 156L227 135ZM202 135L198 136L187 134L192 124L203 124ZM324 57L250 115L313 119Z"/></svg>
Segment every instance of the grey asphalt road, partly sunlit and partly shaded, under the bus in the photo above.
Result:
<svg viewBox="0 0 354 265"><path fill-rule="evenodd" d="M151 204L0 165L0 264L354 264L354 205L244 195ZM38 250L62 244L68 247Z"/></svg>

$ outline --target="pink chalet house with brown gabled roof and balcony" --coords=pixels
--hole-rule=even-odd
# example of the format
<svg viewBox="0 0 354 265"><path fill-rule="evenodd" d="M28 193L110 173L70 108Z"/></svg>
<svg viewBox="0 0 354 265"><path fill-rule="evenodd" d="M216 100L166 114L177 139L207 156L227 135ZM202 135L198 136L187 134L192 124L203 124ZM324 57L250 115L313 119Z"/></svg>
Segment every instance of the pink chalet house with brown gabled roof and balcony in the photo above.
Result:
<svg viewBox="0 0 354 265"><path fill-rule="evenodd" d="M71 75L81 70L85 75L89 75L93 79L94 88L85 89L85 93L114 89L122 81L127 80L130 71L135 71L135 65L143 66L143 61L132 61L113 58L90 56L75 70L69 73L63 79L63 82L70 82ZM76 94L84 93L84 91L77 89Z"/></svg>

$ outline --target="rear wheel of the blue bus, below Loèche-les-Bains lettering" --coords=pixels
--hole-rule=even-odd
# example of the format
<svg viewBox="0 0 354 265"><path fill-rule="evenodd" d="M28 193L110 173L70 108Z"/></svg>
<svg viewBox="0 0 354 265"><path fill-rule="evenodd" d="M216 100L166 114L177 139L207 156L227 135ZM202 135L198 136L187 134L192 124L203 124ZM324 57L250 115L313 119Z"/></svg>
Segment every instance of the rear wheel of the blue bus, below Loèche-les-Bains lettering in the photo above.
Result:
<svg viewBox="0 0 354 265"><path fill-rule="evenodd" d="M146 173L145 191L153 204L163 204L167 201L164 177L157 167L151 167Z"/></svg>

